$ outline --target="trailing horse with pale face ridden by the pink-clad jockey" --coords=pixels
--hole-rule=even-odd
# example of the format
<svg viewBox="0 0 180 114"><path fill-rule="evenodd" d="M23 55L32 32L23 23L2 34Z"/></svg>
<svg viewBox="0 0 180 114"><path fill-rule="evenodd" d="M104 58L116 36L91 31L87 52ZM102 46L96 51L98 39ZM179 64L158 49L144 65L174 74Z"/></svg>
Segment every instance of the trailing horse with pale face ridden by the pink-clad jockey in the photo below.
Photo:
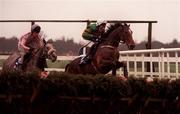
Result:
<svg viewBox="0 0 180 114"><path fill-rule="evenodd" d="M55 62L57 59L56 50L51 43L44 43L39 49L34 49L25 55L26 64L23 65L23 69L15 67L17 59L20 57L19 52L14 52L4 62L2 71L22 70L22 71L44 71L46 67L46 59L50 59Z"/></svg>

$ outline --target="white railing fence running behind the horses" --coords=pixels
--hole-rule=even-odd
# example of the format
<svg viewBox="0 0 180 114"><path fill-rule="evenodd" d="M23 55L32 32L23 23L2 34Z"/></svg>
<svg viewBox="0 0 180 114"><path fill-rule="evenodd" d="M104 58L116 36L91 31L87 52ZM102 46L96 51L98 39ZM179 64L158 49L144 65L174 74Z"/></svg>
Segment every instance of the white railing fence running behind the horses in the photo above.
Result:
<svg viewBox="0 0 180 114"><path fill-rule="evenodd" d="M58 60L73 60L77 56L58 56ZM7 56L0 56L6 59ZM180 48L120 51L120 61L127 63L129 76L180 78ZM60 68L47 70L64 71ZM122 70L118 70L122 74Z"/></svg>

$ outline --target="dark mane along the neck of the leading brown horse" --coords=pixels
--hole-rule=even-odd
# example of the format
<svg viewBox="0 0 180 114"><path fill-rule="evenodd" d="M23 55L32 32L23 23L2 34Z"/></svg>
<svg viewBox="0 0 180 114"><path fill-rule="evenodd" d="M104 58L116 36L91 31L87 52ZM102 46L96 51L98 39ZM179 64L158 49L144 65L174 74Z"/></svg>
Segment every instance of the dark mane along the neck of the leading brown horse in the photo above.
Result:
<svg viewBox="0 0 180 114"><path fill-rule="evenodd" d="M118 28L121 26L122 23L115 23L115 24L110 24L108 27L108 30L102 35L103 38L107 37L114 29Z"/></svg>

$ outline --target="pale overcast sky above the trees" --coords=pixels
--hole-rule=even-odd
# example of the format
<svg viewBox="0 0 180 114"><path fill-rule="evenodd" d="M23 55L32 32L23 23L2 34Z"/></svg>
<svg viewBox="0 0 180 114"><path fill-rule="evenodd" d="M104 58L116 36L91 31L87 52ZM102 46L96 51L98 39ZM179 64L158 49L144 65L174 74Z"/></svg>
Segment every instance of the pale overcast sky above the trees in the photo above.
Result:
<svg viewBox="0 0 180 114"><path fill-rule="evenodd" d="M150 20L153 40L180 39L180 0L0 0L0 20ZM84 41L86 23L38 23L47 39L61 36ZM29 31L30 23L0 23L0 36ZM147 40L147 24L131 24L135 41ZM180 40L178 40L180 41Z"/></svg>

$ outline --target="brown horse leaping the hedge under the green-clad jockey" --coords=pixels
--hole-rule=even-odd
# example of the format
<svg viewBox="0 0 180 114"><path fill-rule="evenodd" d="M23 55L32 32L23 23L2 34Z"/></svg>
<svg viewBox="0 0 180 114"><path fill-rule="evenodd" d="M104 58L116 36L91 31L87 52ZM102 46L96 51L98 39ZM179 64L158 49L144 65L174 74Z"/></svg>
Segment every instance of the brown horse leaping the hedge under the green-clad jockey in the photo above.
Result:
<svg viewBox="0 0 180 114"><path fill-rule="evenodd" d="M106 74L112 70L112 74L116 75L116 70L118 68L126 68L126 64L118 61L118 46L119 43L125 43L129 49L135 47L132 31L129 26L130 25L126 23L111 25L109 30L102 36L102 41L99 43L92 61L84 66L79 66L81 57L76 58L66 66L65 72L72 74Z"/></svg>

